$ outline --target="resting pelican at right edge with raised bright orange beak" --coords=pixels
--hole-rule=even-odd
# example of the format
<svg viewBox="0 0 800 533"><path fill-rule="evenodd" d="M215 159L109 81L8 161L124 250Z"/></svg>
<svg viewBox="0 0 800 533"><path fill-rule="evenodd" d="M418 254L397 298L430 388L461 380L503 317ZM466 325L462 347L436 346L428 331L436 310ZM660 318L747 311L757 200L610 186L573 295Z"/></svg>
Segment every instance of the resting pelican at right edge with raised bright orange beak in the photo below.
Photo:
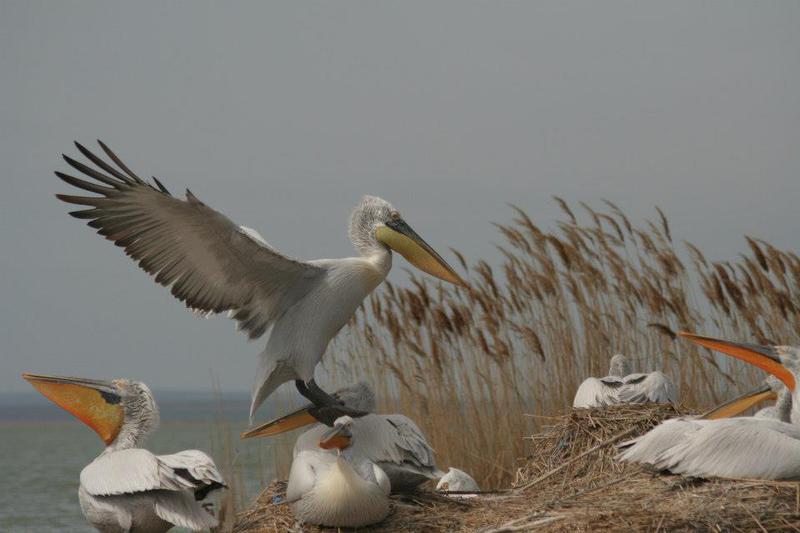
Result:
<svg viewBox="0 0 800 533"><path fill-rule="evenodd" d="M778 419L742 417L693 421L679 438L666 445L669 433L662 424L619 458L653 465L661 470L694 477L800 479L800 427L797 390L800 350L790 346L759 346L690 333L680 336L707 348L747 361L780 379L792 394L792 423Z"/></svg>

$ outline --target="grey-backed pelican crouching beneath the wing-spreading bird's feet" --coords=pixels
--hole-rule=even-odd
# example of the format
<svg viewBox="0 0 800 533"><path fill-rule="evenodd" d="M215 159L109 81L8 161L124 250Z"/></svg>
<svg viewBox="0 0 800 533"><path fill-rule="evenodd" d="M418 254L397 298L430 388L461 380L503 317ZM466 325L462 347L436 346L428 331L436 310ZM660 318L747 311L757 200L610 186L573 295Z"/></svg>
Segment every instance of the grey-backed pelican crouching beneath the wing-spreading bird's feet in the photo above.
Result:
<svg viewBox="0 0 800 533"><path fill-rule="evenodd" d="M429 479L444 475L436 468L433 449L413 420L399 414L374 414L375 394L367 383L340 389L335 397L350 409L368 413L349 423L352 445L340 452L345 459L367 459L377 464L389 477L393 492L411 492ZM318 409L305 406L242 433L242 438L277 435L317 422L319 418L324 417L320 417ZM317 443L329 429L317 424L300 435L294 446L295 459L306 450L317 450Z"/></svg>

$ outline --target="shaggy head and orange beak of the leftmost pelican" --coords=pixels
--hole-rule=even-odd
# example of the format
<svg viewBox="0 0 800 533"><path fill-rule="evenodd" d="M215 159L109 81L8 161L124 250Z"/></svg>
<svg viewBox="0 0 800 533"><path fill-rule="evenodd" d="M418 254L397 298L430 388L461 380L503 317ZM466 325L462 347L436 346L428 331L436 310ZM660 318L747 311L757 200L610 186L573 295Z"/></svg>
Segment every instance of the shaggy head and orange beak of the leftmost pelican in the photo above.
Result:
<svg viewBox="0 0 800 533"><path fill-rule="evenodd" d="M92 428L106 446L134 447L158 427L158 407L144 383L28 373L22 377L47 399Z"/></svg>

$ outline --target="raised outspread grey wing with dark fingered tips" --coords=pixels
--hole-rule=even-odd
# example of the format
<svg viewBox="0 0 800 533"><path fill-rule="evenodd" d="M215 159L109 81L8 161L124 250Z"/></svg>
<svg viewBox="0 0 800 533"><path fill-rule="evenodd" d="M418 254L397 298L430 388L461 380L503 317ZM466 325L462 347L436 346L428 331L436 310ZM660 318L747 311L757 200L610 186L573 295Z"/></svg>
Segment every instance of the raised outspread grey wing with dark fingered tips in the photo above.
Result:
<svg viewBox="0 0 800 533"><path fill-rule="evenodd" d="M324 274L320 266L281 254L190 191L180 200L156 178L154 184L145 182L102 142L112 163L75 145L95 166L65 155L84 179L56 175L97 196L56 196L89 207L70 215L89 220L187 307L200 313L228 311L254 339L308 292L309 281Z"/></svg>

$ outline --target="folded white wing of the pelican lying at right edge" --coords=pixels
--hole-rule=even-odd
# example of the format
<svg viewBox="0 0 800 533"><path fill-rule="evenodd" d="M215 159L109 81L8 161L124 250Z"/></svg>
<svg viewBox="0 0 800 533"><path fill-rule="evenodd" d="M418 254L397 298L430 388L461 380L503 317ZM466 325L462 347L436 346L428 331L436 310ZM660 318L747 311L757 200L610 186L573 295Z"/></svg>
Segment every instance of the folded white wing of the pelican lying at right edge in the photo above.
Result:
<svg viewBox="0 0 800 533"><path fill-rule="evenodd" d="M756 418L709 420L655 466L693 477L800 479L800 428Z"/></svg>

